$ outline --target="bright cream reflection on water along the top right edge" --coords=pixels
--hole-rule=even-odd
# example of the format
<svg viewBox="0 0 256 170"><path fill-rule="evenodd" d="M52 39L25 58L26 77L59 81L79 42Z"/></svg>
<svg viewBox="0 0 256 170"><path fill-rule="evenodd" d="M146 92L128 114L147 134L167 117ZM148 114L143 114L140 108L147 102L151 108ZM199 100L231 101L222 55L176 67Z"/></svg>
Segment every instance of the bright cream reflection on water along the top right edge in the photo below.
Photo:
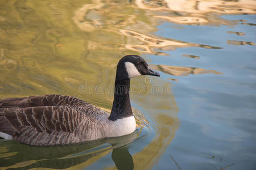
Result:
<svg viewBox="0 0 256 170"><path fill-rule="evenodd" d="M157 2L157 3L154 3ZM157 4L157 5L156 5ZM253 0L242 1L143 1L137 0L136 5L146 10L166 12L169 15L154 15L170 22L189 25L205 24L233 24L216 16L220 14L255 14L255 2ZM178 16L177 16L178 15Z"/></svg>

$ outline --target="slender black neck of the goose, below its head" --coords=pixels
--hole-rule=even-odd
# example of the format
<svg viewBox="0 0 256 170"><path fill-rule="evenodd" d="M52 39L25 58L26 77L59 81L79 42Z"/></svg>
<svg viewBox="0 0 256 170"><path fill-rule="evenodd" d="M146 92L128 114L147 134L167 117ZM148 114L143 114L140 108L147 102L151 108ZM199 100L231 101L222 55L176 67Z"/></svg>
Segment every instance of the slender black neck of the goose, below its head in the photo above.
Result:
<svg viewBox="0 0 256 170"><path fill-rule="evenodd" d="M130 79L115 79L115 94L112 111L109 120L115 121L119 118L133 116L130 103Z"/></svg>

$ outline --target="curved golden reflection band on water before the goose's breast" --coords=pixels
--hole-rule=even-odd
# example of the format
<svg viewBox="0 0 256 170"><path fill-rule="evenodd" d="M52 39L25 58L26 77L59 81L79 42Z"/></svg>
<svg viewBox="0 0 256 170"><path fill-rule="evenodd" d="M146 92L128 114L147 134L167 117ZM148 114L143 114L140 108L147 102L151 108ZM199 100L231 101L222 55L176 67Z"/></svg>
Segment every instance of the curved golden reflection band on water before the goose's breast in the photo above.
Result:
<svg viewBox="0 0 256 170"><path fill-rule="evenodd" d="M140 83L143 84L143 82ZM145 83L147 84L147 82ZM164 81L158 83L164 84ZM153 79L148 89L151 89L158 83L155 83ZM144 97L148 95L149 97ZM160 156L166 151L166 148L175 137L175 131L180 123L177 118L178 108L172 94L156 95L146 92L141 95L133 95L133 97L136 97L137 103L143 108L148 108L148 103L154 101L151 102L152 107L147 109L148 115L140 115L138 113L138 116L148 116L146 120L148 119L148 124L154 129L155 137L149 145L143 147L142 151L133 155L134 169L151 169L158 163ZM161 112L159 112L159 109L161 109ZM115 167L107 169L115 169Z"/></svg>

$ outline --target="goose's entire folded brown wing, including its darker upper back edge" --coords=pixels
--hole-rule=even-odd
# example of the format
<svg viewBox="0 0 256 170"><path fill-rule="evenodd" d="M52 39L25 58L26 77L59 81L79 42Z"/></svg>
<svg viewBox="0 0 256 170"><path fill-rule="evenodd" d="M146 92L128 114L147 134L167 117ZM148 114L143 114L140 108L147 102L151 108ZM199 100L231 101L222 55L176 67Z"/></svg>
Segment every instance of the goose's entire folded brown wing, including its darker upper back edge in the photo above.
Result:
<svg viewBox="0 0 256 170"><path fill-rule="evenodd" d="M64 95L2 99L0 131L13 135L14 131L19 133L22 128L30 126L38 132L44 130L47 133L54 130L71 132L79 120L76 118L73 122L72 117L77 114L77 109L84 108L85 105L90 104L77 97Z"/></svg>

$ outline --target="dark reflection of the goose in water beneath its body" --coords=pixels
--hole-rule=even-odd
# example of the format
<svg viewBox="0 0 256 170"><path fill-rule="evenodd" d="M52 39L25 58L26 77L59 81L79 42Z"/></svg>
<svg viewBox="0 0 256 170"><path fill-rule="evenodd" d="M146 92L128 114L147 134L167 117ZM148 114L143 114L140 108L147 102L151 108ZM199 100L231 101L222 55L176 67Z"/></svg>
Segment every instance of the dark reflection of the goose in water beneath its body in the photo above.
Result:
<svg viewBox="0 0 256 170"><path fill-rule="evenodd" d="M66 169L70 167L84 169L109 154L111 150L113 162L118 169L133 169L134 163L129 153L129 146L140 141L147 134L139 137L138 135L138 130L136 130L134 133L122 137L100 139L80 145L47 147L17 145L16 141L1 141L0 145L7 147L0 148L0 151L9 150L9 154L5 159L0 159L0 169ZM11 150L15 152L11 152Z"/></svg>

